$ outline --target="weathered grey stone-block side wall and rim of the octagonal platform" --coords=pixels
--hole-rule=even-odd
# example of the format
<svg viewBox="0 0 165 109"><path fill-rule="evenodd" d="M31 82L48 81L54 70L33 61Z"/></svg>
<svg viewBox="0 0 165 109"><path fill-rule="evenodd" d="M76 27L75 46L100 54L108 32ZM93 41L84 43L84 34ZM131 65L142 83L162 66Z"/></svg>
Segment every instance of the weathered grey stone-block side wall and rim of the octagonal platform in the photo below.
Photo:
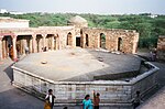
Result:
<svg viewBox="0 0 165 109"><path fill-rule="evenodd" d="M79 105L85 95L92 91L100 92L101 105L132 105L136 91L145 95L157 85L158 68L151 63L145 63L150 70L132 78L122 80L96 80L96 81L53 81L40 77L26 70L12 66L14 81L19 88L37 97L44 98L48 89L53 89L56 103Z"/></svg>

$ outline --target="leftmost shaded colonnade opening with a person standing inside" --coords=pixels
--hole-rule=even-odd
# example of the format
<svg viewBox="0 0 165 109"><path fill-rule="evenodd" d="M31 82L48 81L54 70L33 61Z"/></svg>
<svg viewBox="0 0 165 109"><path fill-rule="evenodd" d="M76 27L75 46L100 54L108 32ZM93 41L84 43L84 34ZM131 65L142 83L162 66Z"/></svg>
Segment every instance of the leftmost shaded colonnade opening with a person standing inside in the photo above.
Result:
<svg viewBox="0 0 165 109"><path fill-rule="evenodd" d="M12 37L7 35L2 39L2 58L10 57L13 59Z"/></svg>

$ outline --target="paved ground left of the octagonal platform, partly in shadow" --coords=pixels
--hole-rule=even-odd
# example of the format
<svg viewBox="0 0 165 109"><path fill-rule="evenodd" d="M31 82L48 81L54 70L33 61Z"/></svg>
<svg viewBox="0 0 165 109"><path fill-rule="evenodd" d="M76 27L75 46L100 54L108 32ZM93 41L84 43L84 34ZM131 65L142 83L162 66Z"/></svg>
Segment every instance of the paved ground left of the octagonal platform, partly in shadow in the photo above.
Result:
<svg viewBox="0 0 165 109"><path fill-rule="evenodd" d="M43 109L43 101L11 86L10 59L0 65L0 109Z"/></svg>

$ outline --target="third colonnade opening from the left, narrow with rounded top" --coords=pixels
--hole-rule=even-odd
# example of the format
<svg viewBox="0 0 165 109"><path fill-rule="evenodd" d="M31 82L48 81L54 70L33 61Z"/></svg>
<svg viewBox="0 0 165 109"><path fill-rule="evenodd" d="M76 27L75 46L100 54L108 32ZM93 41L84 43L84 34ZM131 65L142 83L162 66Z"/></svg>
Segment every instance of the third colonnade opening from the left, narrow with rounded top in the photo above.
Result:
<svg viewBox="0 0 165 109"><path fill-rule="evenodd" d="M36 35L36 50L37 50L37 53L38 52L42 52L42 48L43 48L43 36L41 34L37 34Z"/></svg>

